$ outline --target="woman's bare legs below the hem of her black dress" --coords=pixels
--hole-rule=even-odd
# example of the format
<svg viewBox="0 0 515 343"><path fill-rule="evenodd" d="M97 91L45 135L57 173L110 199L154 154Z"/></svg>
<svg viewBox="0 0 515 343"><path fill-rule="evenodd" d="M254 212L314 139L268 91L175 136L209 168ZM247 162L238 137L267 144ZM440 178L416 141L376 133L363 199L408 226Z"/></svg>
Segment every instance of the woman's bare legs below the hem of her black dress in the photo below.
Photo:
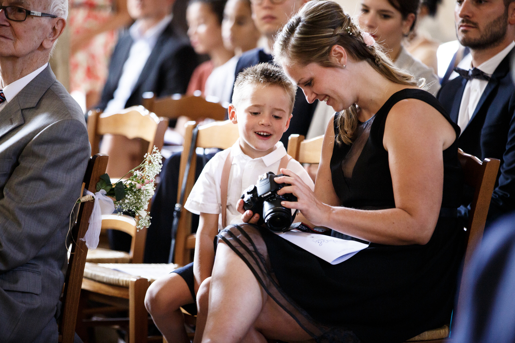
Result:
<svg viewBox="0 0 515 343"><path fill-rule="evenodd" d="M268 297L245 262L219 242L201 341L265 343L265 336L283 340L311 338Z"/></svg>

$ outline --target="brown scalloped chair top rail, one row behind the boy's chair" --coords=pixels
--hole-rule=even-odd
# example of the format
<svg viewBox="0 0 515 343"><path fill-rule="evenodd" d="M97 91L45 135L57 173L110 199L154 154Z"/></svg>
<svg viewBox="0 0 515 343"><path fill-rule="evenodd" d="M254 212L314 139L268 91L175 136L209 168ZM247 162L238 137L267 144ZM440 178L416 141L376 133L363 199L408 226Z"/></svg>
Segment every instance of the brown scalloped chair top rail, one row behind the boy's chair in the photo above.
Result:
<svg viewBox="0 0 515 343"><path fill-rule="evenodd" d="M186 116L191 120L203 118L224 120L227 112L227 109L218 102L218 99L213 102L194 95L174 94L157 99L152 92L145 92L143 93L142 104L148 111L170 119Z"/></svg>

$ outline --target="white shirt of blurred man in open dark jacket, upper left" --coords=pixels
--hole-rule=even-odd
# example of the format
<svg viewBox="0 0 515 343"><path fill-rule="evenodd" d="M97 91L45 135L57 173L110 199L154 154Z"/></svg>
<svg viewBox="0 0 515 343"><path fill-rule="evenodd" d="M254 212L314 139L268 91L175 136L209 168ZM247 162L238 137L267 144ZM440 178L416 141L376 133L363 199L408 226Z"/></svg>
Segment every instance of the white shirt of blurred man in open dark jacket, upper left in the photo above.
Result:
<svg viewBox="0 0 515 343"><path fill-rule="evenodd" d="M167 15L158 24L142 32L141 21L136 21L129 29L133 43L129 50L129 57L124 63L122 76L118 81L113 98L107 103L104 112L119 111L125 109L134 86L140 78L141 71L147 63L152 49L156 46L159 36L171 22L172 16ZM115 62L115 61L113 61Z"/></svg>

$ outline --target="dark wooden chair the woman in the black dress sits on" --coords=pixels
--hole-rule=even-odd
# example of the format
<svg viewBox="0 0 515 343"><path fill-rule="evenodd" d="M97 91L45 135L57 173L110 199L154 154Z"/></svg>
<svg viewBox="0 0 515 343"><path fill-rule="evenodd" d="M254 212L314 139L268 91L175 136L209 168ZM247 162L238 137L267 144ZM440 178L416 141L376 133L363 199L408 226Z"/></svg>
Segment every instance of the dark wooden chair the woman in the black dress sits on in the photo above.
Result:
<svg viewBox="0 0 515 343"><path fill-rule="evenodd" d="M458 158L464 172L465 184L474 188L474 198L469 213L469 221L464 228L467 232L467 242L463 269L466 270L469 267L474 250L483 239L486 217L488 215L488 209L490 208L490 201L492 199L500 161L496 158L485 158L482 162L477 157L464 153L461 149L459 149ZM459 279L461 279L461 275ZM460 282L459 290L462 290L465 287L465 281L461 279ZM461 303L464 301L459 296L460 293L461 292L458 292L458 308L462 307ZM454 312L453 316L455 315L456 313ZM444 342L449 340L447 338L449 334L449 327L444 326L442 328L425 331L408 341Z"/></svg>

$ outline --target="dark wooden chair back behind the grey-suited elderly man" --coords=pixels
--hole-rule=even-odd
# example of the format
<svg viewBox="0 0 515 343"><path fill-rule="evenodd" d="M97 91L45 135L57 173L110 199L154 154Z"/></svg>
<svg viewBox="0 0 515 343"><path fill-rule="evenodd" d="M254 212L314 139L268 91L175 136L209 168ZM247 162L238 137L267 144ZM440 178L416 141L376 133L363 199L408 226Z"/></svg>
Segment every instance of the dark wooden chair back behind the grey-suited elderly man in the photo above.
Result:
<svg viewBox="0 0 515 343"><path fill-rule="evenodd" d="M83 186L90 192L96 192L96 184L100 180L100 175L106 172L107 155L96 154L91 157L88 168L84 175ZM77 308L80 297L80 286L84 263L88 253L85 241L80 239L88 230L89 219L93 211L93 202L79 205L77 223L72 228L71 256L68 261L68 268L64 279L64 291L62 295L62 314L59 320L59 342L72 343L75 337L75 323L77 318Z"/></svg>

